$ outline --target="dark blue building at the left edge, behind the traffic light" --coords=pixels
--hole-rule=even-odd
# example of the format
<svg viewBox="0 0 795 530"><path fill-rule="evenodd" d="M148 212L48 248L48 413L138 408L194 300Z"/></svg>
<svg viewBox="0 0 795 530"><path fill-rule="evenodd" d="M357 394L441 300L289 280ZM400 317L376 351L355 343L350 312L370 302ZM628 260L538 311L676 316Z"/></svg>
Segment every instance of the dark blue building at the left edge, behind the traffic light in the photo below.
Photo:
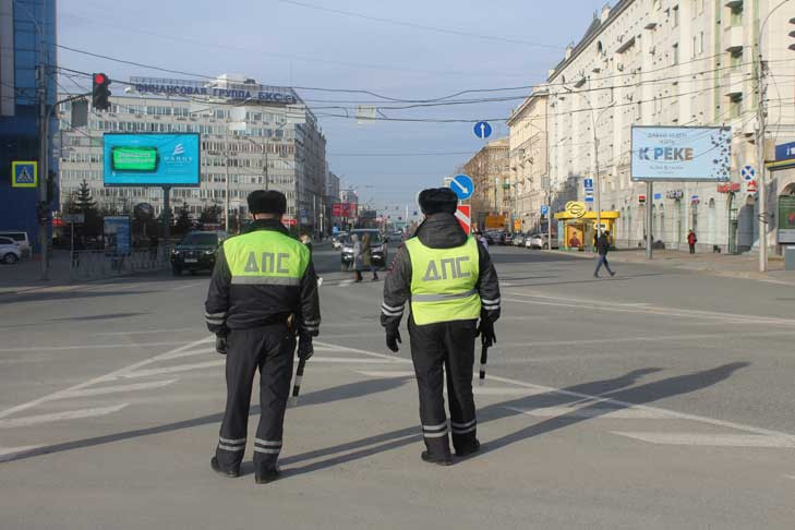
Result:
<svg viewBox="0 0 795 530"><path fill-rule="evenodd" d="M12 188L11 168L13 161L39 161L39 89L53 105L56 57L56 0L0 0L0 230L26 231L35 251L39 190ZM39 180L46 178L38 169ZM52 157L49 169L58 169Z"/></svg>

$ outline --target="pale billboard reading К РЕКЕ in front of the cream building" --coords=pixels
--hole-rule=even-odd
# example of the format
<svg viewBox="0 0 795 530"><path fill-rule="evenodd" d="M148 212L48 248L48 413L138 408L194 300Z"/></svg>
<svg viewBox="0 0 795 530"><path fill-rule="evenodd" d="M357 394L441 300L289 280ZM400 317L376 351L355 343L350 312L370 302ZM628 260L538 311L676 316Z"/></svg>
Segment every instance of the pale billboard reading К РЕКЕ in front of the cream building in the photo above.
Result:
<svg viewBox="0 0 795 530"><path fill-rule="evenodd" d="M635 181L727 181L731 128L633 127Z"/></svg>

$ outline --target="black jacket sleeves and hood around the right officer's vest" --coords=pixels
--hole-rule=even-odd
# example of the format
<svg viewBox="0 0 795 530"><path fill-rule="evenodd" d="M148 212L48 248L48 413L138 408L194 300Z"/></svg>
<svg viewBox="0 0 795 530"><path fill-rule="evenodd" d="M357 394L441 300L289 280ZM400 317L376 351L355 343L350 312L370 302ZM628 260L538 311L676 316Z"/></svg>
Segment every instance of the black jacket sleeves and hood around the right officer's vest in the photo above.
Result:
<svg viewBox="0 0 795 530"><path fill-rule="evenodd" d="M451 214L434 214L414 232L415 238L432 249L453 249L467 242L467 233ZM475 289L481 298L481 318L495 322L499 318L499 280L492 258L478 242L480 277ZM384 281L384 303L381 306L381 325L387 329L400 326L406 302L411 298L411 257L401 245Z"/></svg>

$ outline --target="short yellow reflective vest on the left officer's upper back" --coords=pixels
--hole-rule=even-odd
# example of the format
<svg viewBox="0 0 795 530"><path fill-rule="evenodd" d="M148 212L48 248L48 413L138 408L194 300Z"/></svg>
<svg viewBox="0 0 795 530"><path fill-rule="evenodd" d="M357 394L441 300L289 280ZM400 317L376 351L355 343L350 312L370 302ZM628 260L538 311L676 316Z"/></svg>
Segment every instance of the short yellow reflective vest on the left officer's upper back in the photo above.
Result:
<svg viewBox="0 0 795 530"><path fill-rule="evenodd" d="M232 285L300 286L310 263L303 243L274 230L255 230L224 242Z"/></svg>

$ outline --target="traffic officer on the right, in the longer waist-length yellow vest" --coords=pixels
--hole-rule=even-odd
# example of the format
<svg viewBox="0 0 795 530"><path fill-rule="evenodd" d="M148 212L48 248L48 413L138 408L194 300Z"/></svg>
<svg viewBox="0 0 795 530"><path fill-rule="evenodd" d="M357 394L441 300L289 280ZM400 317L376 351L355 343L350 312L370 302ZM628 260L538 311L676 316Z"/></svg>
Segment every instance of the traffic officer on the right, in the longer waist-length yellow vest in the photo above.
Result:
<svg viewBox="0 0 795 530"><path fill-rule="evenodd" d="M398 327L410 302L411 359L426 447L422 459L449 466L444 377L453 446L458 456L467 456L480 448L472 397L474 338L481 334L490 346L496 340L499 285L489 252L467 237L454 215L456 194L448 188L424 190L419 202L425 220L397 251L384 282L381 323L387 347L398 351Z"/></svg>

